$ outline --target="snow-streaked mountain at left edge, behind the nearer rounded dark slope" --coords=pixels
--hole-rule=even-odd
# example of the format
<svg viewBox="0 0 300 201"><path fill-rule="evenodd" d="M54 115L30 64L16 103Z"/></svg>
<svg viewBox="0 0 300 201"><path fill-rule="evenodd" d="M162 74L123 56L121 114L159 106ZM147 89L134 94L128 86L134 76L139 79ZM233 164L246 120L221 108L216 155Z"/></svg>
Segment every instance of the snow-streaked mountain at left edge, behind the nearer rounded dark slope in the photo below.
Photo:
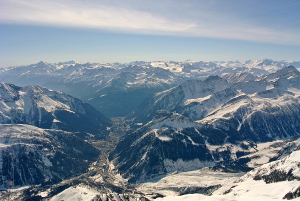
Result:
<svg viewBox="0 0 300 201"><path fill-rule="evenodd" d="M79 99L40 86L0 82L0 123L105 134L110 120Z"/></svg>

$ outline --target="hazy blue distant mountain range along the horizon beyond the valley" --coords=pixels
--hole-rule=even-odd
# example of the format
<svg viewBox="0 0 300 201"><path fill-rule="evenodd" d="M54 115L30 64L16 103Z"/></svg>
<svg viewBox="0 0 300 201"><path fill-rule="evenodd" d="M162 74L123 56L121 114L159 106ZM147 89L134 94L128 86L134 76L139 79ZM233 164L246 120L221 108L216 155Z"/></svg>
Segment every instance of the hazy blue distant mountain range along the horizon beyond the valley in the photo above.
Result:
<svg viewBox="0 0 300 201"><path fill-rule="evenodd" d="M189 79L204 80L210 75L219 75L232 83L253 80L256 76L275 72L287 65L297 68L300 67L300 61L186 60L135 61L125 64L40 61L36 64L1 68L0 81L62 90L90 103L105 115L125 116L155 92L169 89Z"/></svg>

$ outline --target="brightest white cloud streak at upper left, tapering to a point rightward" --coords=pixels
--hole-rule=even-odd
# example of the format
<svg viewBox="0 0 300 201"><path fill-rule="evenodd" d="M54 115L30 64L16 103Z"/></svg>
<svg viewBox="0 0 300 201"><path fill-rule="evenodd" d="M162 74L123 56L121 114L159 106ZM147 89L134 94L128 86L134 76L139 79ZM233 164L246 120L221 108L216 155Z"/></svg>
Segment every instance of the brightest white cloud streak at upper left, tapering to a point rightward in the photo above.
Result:
<svg viewBox="0 0 300 201"><path fill-rule="evenodd" d="M0 21L116 30L173 32L195 24L174 22L139 10L80 1L9 0L3 3Z"/></svg>

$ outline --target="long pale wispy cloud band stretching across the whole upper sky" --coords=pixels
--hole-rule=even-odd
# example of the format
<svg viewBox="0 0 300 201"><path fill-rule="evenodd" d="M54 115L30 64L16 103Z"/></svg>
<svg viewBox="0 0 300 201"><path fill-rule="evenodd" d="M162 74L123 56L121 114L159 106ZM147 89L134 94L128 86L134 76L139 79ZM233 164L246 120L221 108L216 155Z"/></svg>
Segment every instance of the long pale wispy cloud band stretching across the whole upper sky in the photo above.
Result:
<svg viewBox="0 0 300 201"><path fill-rule="evenodd" d="M1 23L25 23L109 29L138 34L169 34L231 38L300 45L300 33L238 19L208 3L193 7L170 5L176 1L146 3L144 7L122 1L0 0ZM136 1L137 2L137 1ZM189 1L192 2L192 1ZM196 2L196 1L194 1ZM203 1L204 2L204 1ZM153 5L154 4L154 5ZM147 6L150 6L147 9Z"/></svg>

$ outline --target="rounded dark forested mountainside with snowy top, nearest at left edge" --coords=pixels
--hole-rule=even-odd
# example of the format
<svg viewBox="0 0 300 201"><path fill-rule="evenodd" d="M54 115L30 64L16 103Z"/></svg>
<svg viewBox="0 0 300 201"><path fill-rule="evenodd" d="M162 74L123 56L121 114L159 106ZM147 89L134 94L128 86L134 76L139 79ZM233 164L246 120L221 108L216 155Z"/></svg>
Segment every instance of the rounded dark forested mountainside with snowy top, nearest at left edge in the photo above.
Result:
<svg viewBox="0 0 300 201"><path fill-rule="evenodd" d="M0 185L50 184L78 175L99 151L62 130L26 124L0 125Z"/></svg>

